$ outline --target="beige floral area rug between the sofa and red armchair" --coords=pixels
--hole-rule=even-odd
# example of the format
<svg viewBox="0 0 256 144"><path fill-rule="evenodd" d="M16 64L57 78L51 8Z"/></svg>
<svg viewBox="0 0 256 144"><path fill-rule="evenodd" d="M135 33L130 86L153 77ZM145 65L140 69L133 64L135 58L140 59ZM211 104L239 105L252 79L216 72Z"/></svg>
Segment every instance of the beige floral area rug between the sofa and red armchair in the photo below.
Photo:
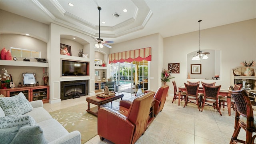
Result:
<svg viewBox="0 0 256 144"><path fill-rule="evenodd" d="M81 144L97 135L97 117L86 112L87 104L78 104L50 112L68 132L78 130L81 133Z"/></svg>

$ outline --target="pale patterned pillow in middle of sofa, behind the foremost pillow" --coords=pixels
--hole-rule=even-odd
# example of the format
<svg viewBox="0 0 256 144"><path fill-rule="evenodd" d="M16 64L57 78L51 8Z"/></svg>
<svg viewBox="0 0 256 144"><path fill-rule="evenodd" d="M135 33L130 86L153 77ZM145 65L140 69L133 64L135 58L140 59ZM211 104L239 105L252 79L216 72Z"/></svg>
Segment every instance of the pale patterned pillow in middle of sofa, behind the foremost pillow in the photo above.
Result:
<svg viewBox="0 0 256 144"><path fill-rule="evenodd" d="M24 125L35 126L36 121L29 115L12 115L0 118L0 129Z"/></svg>

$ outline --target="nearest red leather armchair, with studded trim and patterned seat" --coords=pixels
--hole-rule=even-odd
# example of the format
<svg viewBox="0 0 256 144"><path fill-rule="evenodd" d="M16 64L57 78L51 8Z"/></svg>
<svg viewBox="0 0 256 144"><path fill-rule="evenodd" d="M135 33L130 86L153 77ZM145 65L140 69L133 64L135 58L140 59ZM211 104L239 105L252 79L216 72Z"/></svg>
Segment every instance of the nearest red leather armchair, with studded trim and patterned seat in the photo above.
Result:
<svg viewBox="0 0 256 144"><path fill-rule="evenodd" d="M134 98L132 103L121 100L120 106L98 110L98 135L100 140L116 144L134 144L144 134L154 93L148 92Z"/></svg>

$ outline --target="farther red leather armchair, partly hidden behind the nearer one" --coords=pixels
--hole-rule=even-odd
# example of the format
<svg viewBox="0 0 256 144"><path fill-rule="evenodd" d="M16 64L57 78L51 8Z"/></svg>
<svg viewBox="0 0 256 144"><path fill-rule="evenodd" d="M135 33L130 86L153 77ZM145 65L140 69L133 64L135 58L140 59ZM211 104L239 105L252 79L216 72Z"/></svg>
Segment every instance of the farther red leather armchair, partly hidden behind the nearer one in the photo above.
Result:
<svg viewBox="0 0 256 144"><path fill-rule="evenodd" d="M158 90L156 92L153 92L151 90L144 91L144 93L147 93L147 92L155 93L154 98L153 98L153 101L155 101L155 104L154 104L154 116L155 117L164 108L164 103L166 100L166 96L168 94L168 90L169 90L169 85L165 85L165 86L161 86L160 88L158 88Z"/></svg>

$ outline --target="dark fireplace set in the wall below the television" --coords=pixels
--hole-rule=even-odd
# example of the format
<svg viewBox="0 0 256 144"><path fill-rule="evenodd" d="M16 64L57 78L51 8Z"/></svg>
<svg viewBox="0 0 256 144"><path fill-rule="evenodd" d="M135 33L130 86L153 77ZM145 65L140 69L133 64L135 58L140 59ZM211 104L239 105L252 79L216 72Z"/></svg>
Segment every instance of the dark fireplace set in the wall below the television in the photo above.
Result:
<svg viewBox="0 0 256 144"><path fill-rule="evenodd" d="M60 99L66 100L88 95L89 80L60 82Z"/></svg>

